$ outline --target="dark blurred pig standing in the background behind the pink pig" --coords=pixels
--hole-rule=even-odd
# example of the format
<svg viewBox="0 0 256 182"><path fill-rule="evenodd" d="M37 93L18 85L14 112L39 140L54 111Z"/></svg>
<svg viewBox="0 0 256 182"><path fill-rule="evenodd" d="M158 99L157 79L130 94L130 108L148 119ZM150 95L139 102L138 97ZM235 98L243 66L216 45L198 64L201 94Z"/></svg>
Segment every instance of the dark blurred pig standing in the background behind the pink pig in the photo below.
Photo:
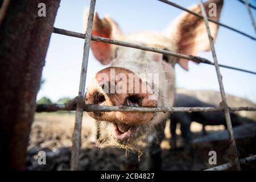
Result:
<svg viewBox="0 0 256 182"><path fill-rule="evenodd" d="M210 92L209 92L210 96ZM176 94L175 104L176 107L216 107L217 105L209 104L200 101L199 99L188 96L185 94ZM176 125L180 123L180 130L185 142L185 148L190 148L191 145L191 122L195 121L203 125L203 135L206 135L205 125L224 125L226 127L226 120L224 112L192 112L192 113L170 113L168 119L171 120L171 143L172 147L176 148ZM232 126L236 127L245 123L254 122L252 119L242 117L235 113L230 113Z"/></svg>

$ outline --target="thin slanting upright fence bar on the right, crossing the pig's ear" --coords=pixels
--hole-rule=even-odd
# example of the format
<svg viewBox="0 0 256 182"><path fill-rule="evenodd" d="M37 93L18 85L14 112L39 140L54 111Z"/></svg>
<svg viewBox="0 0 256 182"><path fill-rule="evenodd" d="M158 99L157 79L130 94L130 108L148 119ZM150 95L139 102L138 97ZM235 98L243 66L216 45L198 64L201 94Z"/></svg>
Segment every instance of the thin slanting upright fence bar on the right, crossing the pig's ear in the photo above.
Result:
<svg viewBox="0 0 256 182"><path fill-rule="evenodd" d="M224 86L223 86L223 82L222 82L222 76L220 73L220 67L218 66L218 60L217 60L216 52L215 52L214 45L213 45L212 35L210 34L207 13L205 12L204 3L202 0L200 0L200 7L201 7L201 11L202 11L202 14L204 17L205 26L207 28L207 33L208 33L209 42L210 42L210 49L212 51L214 66L216 68L216 73L217 73L217 77L218 77L218 84L220 86L220 93L221 93L221 98L222 98L221 104L224 107L226 125L228 126L229 141L230 141L229 156L230 156L230 159L232 160L232 164L234 166L236 166L237 170L241 170L239 159L238 159L237 145L236 145L236 141L234 139L234 133L233 133L232 123L231 123L230 114L229 114L229 107L227 104L226 94L225 94Z"/></svg>

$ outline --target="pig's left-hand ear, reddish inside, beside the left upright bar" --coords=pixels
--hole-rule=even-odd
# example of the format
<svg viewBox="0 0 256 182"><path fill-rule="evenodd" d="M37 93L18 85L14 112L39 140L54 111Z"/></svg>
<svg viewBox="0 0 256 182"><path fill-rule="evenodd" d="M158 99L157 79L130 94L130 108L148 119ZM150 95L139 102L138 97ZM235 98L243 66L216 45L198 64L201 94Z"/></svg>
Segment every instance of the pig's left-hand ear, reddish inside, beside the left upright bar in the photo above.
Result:
<svg viewBox="0 0 256 182"><path fill-rule="evenodd" d="M85 26L87 26L88 14L89 10L86 10ZM92 35L112 39L121 35L121 31L119 30L118 24L111 18L105 17L100 19L98 14L95 13L93 18ZM101 64L109 64L110 61L114 59L115 46L112 44L92 41L90 48L93 51L93 55L101 62Z"/></svg>

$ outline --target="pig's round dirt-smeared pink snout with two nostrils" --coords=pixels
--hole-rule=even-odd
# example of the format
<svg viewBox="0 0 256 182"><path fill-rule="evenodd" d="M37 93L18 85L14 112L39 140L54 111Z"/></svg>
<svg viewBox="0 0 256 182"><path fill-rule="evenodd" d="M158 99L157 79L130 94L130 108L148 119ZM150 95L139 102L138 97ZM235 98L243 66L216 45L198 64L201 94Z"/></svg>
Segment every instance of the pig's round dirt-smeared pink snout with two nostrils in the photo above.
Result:
<svg viewBox="0 0 256 182"><path fill-rule="evenodd" d="M158 102L150 87L134 72L121 67L108 67L96 73L88 85L85 104L104 106L155 107ZM110 111L88 112L98 121L113 122L118 131L123 133L130 126L150 122L154 112Z"/></svg>

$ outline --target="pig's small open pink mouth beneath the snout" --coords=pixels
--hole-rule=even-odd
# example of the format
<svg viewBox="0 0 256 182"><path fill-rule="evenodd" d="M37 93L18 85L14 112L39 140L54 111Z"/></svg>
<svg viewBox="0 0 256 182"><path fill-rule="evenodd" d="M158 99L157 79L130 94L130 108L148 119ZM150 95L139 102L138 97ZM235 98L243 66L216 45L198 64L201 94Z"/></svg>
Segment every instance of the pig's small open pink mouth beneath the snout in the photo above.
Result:
<svg viewBox="0 0 256 182"><path fill-rule="evenodd" d="M129 139L134 137L135 133L139 130L139 126L130 126L123 123L113 123L113 126L113 137L118 143L122 144L129 142Z"/></svg>

